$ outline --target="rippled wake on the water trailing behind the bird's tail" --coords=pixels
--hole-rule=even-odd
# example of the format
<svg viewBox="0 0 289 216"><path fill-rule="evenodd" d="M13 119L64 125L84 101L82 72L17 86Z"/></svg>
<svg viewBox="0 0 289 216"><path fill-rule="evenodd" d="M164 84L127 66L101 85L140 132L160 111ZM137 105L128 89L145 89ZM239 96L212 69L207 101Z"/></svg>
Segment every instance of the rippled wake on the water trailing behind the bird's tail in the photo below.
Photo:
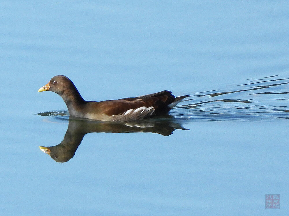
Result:
<svg viewBox="0 0 289 216"><path fill-rule="evenodd" d="M224 86L223 90L190 94L191 98L177 106L171 114L187 120L208 121L288 119L289 82L284 80L289 78L272 77L277 75L254 79L258 82L248 79L248 83L230 85L227 89ZM212 97L215 99L211 100Z"/></svg>

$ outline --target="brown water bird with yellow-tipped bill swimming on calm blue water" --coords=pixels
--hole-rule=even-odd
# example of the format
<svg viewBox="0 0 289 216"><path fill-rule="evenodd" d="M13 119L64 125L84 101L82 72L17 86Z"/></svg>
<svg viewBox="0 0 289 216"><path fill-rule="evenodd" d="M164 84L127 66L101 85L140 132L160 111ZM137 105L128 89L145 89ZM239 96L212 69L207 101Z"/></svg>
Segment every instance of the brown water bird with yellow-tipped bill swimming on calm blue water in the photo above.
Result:
<svg viewBox="0 0 289 216"><path fill-rule="evenodd" d="M86 101L73 82L64 75L51 78L38 92L59 94L66 103L69 116L106 122L129 122L167 114L190 95L175 97L171 91L161 91L138 97L108 101Z"/></svg>

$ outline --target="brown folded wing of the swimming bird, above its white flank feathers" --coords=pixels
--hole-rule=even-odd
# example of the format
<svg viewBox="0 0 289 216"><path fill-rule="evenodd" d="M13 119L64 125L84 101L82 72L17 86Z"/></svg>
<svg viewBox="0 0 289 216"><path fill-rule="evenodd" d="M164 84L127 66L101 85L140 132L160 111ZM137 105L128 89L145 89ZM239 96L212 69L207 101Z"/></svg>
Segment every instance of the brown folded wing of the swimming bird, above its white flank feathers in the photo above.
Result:
<svg viewBox="0 0 289 216"><path fill-rule="evenodd" d="M123 98L99 102L103 113L107 115L119 115L129 109L139 107L154 107L155 114L167 113L171 108L167 107L175 100L175 96L170 91L162 91L154 94L147 94L135 98Z"/></svg>

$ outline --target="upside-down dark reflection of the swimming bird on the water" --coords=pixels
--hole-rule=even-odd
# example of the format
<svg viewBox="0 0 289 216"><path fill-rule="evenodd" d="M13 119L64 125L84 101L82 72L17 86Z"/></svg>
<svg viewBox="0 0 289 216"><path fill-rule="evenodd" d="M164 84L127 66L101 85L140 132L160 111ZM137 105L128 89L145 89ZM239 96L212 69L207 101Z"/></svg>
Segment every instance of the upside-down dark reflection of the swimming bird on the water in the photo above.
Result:
<svg viewBox="0 0 289 216"><path fill-rule="evenodd" d="M173 134L175 129L189 130L179 123L168 121L149 122L94 122L84 120L69 120L68 128L61 143L55 146L39 146L40 150L51 156L56 162L67 162L73 158L83 137L87 133L131 133L131 132L151 132L164 136Z"/></svg>

